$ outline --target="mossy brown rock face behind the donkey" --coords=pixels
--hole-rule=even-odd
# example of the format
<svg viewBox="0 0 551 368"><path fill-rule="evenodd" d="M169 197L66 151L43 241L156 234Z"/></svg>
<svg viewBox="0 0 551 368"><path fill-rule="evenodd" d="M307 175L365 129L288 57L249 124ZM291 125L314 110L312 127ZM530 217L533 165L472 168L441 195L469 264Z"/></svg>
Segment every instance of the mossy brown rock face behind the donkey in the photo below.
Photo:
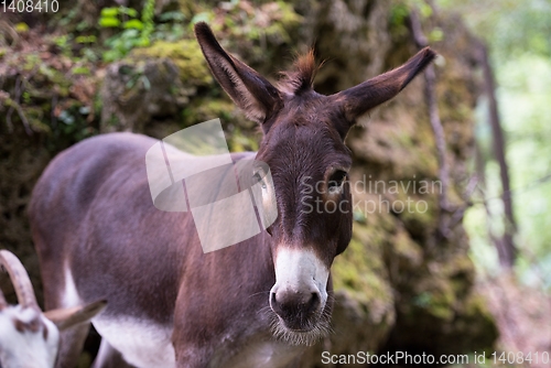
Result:
<svg viewBox="0 0 551 368"><path fill-rule="evenodd" d="M327 59L315 84L324 94L399 66L417 52L407 28L408 9L400 2L312 0L257 7L240 1L216 2L212 9L180 3L190 15L210 14L223 45L268 77L287 64L291 47L306 51L314 44L318 58ZM441 55L436 61L436 93L452 173L449 201L460 207L468 180L466 160L473 154L473 112L479 91L472 40L461 21L444 14L433 12L422 18L422 23ZM258 147L256 126L213 80L191 34L176 43L160 42L134 50L125 61L102 72L93 69L91 76L80 79L67 80L63 79L67 73L39 71L45 82L30 79L28 88L37 99L43 98L42 115L31 113L35 106L20 99L23 110L36 116L31 125L33 136L25 134L17 113L12 113L15 129L9 129L4 118L8 105L0 116L0 150L7 156L0 163L0 173L11 175L10 182L2 176L0 185L0 243L17 255L26 255L25 264L31 267L34 280L39 279L37 262L25 232L24 206L50 158L83 138L60 132L61 128L73 127L67 123L67 115L76 119L73 125L88 129L86 134L131 130L158 138L220 118L230 150ZM29 72L0 72L0 87L15 100L17 76ZM37 90L54 80L62 89L41 97ZM94 90L102 87L96 99L87 100L76 88L82 85L94 86ZM32 86L34 89L30 89ZM0 95L2 98L7 100L6 95ZM353 241L333 266L334 334L309 350L301 367L323 366L323 350L437 355L490 348L497 332L473 289L475 270L467 256L465 231L461 223L451 229L449 238L436 230L440 217L447 214L437 206L441 184L424 79L418 77L395 100L371 111L350 131L347 144L354 152L353 183L364 186L356 187L359 205L355 208ZM17 175L18 167L28 167L26 175ZM37 280L36 285L40 289Z"/></svg>

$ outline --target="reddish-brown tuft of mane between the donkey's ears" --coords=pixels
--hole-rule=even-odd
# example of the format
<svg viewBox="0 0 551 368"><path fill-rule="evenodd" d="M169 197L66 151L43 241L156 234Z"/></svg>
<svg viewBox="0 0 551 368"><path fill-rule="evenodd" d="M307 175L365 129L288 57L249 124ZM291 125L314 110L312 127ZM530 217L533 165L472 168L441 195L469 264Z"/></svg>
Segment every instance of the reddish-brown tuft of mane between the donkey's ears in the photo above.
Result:
<svg viewBox="0 0 551 368"><path fill-rule="evenodd" d="M293 65L294 71L280 73L282 78L279 80L278 87L294 95L312 90L315 75L322 66L315 64L314 50L311 48L307 54L298 55Z"/></svg>

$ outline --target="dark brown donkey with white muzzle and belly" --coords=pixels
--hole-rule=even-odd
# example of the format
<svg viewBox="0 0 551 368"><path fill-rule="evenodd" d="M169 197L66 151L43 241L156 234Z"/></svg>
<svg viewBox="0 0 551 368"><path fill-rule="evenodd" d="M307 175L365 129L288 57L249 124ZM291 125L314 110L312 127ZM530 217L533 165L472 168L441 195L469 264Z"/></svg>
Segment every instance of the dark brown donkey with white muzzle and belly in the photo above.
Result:
<svg viewBox="0 0 551 368"><path fill-rule="evenodd" d="M203 253L188 213L153 206L144 156L156 140L111 133L60 153L34 188L33 238L47 309L108 301L91 321L102 338L95 367L121 357L148 368L294 364L329 329L329 268L352 237L345 137L435 56L424 48L399 68L323 96L313 89L312 53L276 87L226 53L206 23L195 35L218 83L262 128L256 160L270 167L278 217L248 240ZM307 210L314 199L343 205ZM74 366L87 328L63 336L58 367Z"/></svg>

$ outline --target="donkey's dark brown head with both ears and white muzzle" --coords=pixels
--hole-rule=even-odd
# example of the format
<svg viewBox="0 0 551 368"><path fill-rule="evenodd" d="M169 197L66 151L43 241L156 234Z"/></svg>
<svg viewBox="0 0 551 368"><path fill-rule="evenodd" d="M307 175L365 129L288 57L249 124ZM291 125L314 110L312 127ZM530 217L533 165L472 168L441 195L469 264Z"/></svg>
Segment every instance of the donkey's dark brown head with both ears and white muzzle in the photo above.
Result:
<svg viewBox="0 0 551 368"><path fill-rule="evenodd" d="M218 83L262 127L257 160L270 167L273 187L262 187L276 194L278 206L268 228L276 266L274 328L291 343L310 344L326 329L329 268L352 237L352 158L344 139L358 117L395 97L435 54L424 48L397 69L323 96L313 89L313 53L299 58L296 69L274 87L226 53L207 24L197 23L195 34Z"/></svg>

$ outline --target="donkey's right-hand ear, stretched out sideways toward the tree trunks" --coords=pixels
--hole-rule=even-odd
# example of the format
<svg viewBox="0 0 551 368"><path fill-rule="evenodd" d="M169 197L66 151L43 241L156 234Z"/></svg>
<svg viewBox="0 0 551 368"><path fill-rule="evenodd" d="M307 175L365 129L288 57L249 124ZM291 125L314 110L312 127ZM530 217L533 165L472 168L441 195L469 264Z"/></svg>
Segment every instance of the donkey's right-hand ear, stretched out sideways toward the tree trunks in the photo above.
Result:
<svg viewBox="0 0 551 368"><path fill-rule="evenodd" d="M425 47L402 66L333 95L333 98L353 125L361 115L398 95L435 56L431 48Z"/></svg>

